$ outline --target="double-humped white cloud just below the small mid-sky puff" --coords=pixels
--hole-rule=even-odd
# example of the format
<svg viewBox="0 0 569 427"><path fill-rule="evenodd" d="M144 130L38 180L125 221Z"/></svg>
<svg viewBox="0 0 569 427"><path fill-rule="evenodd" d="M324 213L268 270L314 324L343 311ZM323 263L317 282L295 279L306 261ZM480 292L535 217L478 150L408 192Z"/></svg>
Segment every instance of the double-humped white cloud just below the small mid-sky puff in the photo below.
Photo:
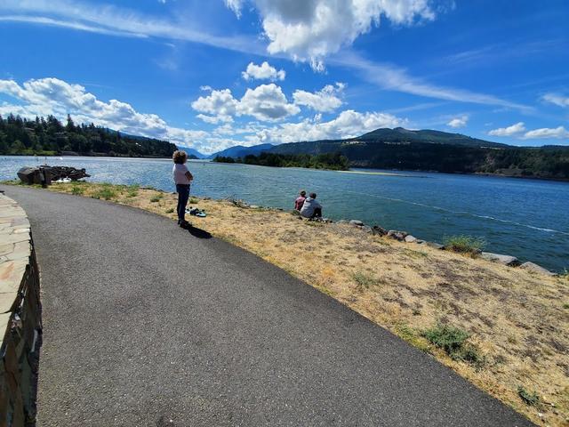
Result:
<svg viewBox="0 0 569 427"><path fill-rule="evenodd" d="M236 100L229 89L212 91L192 102L197 117L207 123L232 122L235 116L252 116L258 120L276 121L294 116L301 109L289 103L280 86L271 83L247 89L241 100Z"/></svg>

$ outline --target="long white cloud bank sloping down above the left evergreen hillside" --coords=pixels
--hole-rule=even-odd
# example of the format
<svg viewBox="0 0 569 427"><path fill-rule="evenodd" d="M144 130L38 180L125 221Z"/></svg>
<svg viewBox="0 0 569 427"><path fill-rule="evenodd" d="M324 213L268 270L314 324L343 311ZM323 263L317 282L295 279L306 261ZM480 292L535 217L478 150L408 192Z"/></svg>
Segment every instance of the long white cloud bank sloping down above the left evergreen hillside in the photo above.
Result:
<svg viewBox="0 0 569 427"><path fill-rule="evenodd" d="M123 101L100 101L82 85L72 85L58 78L31 79L19 85L13 80L0 80L0 93L16 103L4 102L0 114L25 117L52 114L64 119L71 114L77 122L93 122L124 133L169 140L180 145L192 144L199 149L203 131L167 125L156 114L140 113Z"/></svg>

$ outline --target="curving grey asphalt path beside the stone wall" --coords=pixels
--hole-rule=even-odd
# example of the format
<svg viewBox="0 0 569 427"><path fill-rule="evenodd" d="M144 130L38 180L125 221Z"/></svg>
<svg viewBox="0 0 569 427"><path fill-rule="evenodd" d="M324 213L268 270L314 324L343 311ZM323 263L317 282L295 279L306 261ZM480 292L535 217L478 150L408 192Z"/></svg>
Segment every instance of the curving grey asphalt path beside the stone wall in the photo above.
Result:
<svg viewBox="0 0 569 427"><path fill-rule="evenodd" d="M2 189L28 212L43 279L40 427L532 425L205 233L89 198Z"/></svg>

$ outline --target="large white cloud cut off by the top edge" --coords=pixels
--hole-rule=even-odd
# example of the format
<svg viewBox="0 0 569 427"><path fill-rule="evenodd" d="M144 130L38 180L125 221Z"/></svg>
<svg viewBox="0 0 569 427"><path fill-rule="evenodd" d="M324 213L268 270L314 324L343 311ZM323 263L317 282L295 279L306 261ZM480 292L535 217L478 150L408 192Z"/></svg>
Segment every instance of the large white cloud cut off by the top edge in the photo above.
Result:
<svg viewBox="0 0 569 427"><path fill-rule="evenodd" d="M226 0L240 16L244 0ZM434 20L429 0L250 0L260 13L268 52L285 53L324 69L324 58L379 26L381 17L397 25Z"/></svg>

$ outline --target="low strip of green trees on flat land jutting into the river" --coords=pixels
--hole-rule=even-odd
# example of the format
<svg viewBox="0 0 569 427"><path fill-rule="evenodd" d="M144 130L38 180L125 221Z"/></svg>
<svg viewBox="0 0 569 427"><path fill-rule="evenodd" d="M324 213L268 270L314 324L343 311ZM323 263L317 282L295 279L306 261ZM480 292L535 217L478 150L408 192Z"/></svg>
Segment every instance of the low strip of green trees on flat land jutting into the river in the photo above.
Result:
<svg viewBox="0 0 569 427"><path fill-rule="evenodd" d="M237 158L217 156L213 158L213 161L272 167L307 167L310 169L330 169L334 171L346 171L349 169L348 157L342 156L340 152L317 155L262 152L259 156L248 154L247 156Z"/></svg>

